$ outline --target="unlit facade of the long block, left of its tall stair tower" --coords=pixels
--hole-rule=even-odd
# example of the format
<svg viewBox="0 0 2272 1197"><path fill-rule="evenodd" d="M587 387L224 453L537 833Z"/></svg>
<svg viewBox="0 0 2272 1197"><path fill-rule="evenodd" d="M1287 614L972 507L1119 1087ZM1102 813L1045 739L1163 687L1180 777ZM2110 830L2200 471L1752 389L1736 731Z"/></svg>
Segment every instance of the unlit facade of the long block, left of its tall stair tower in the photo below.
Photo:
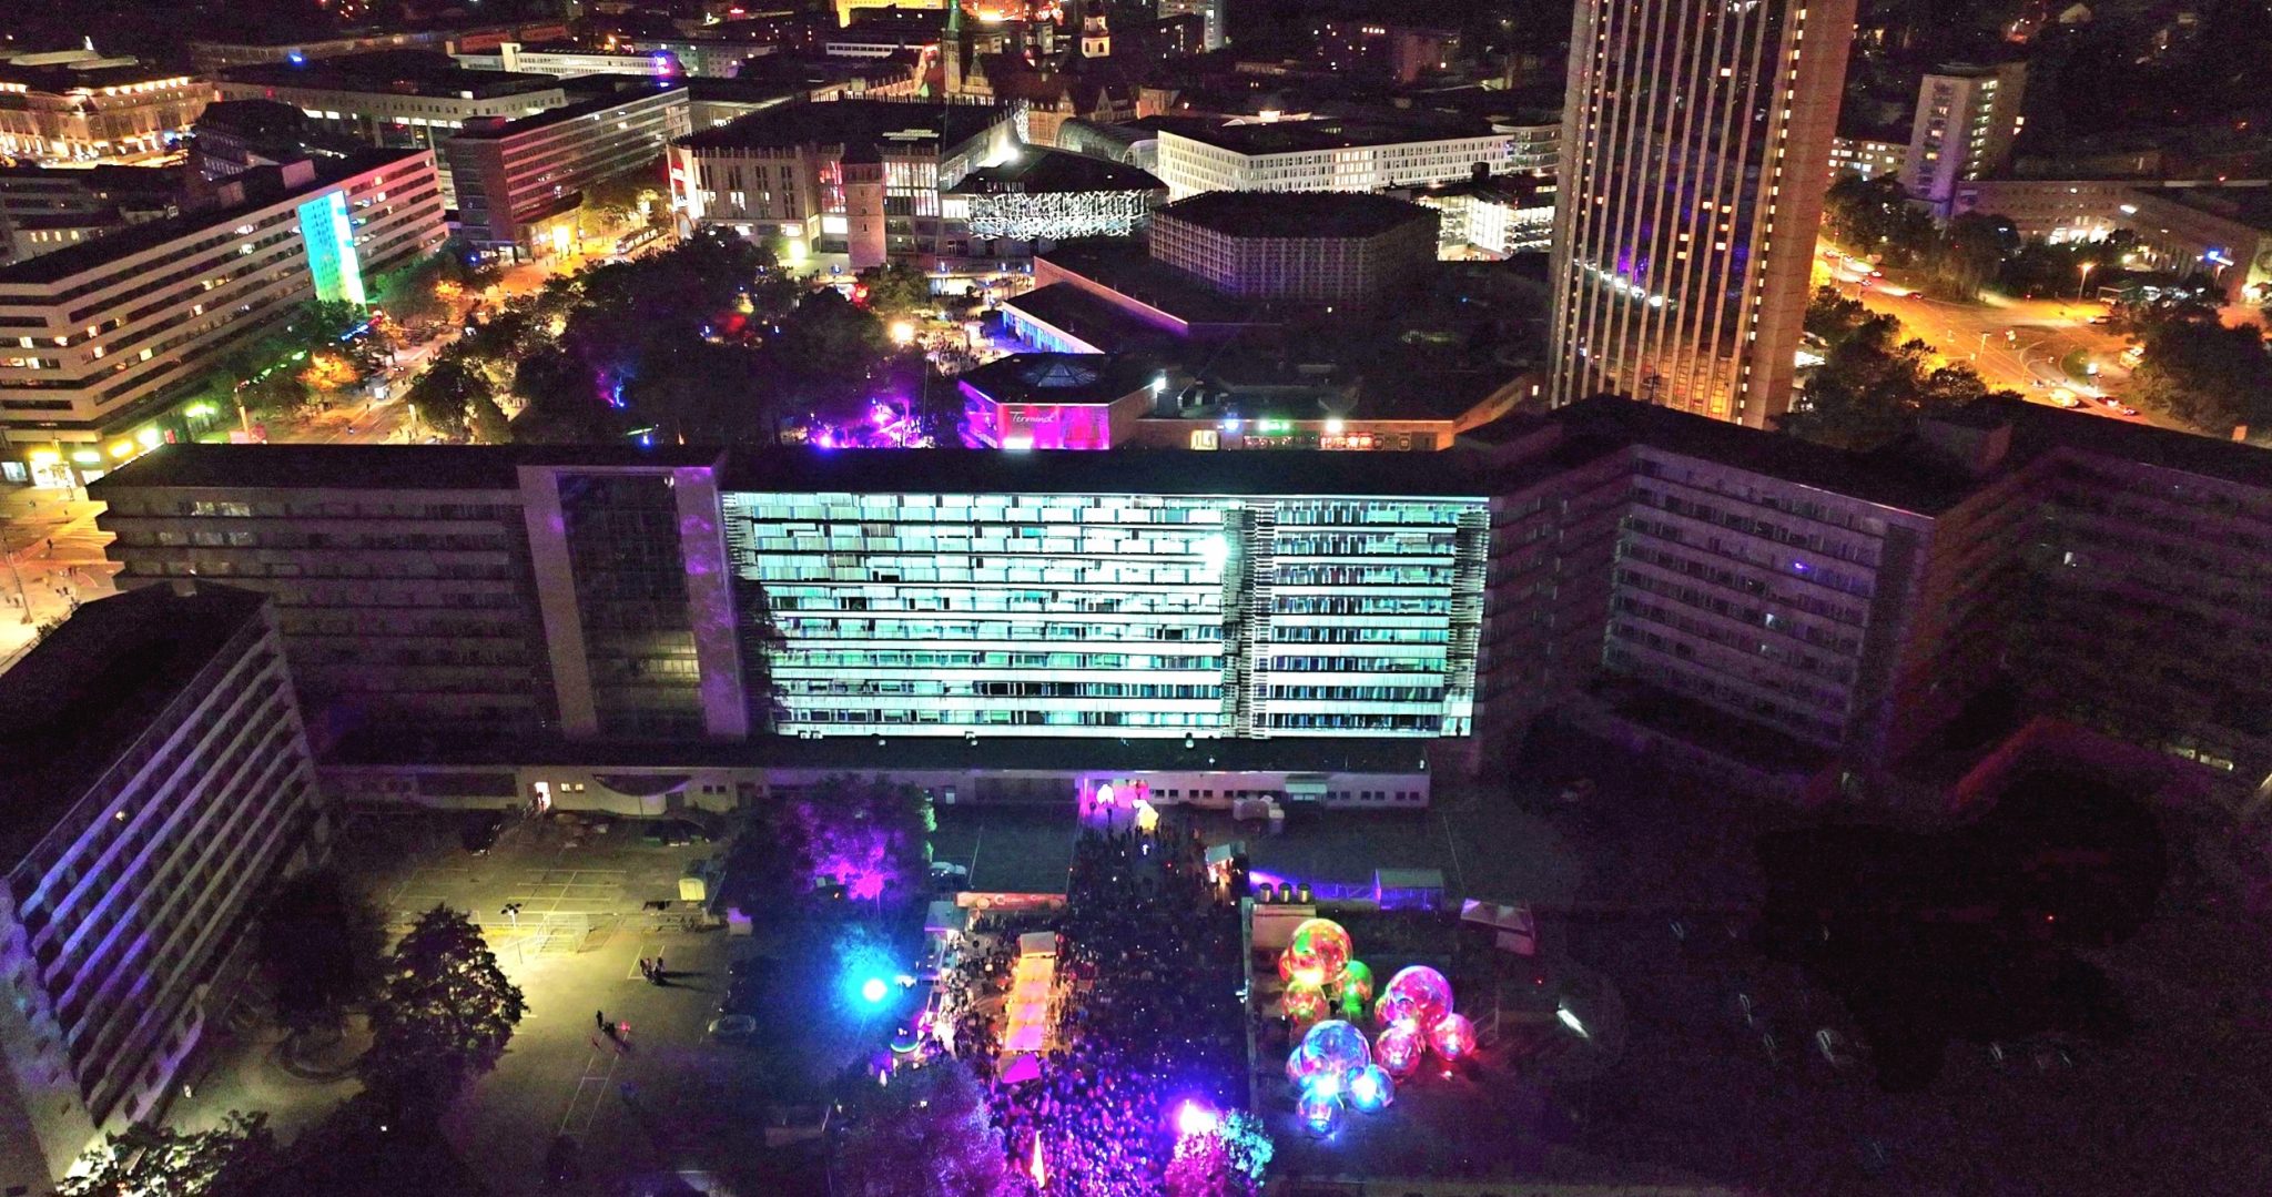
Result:
<svg viewBox="0 0 2272 1197"><path fill-rule="evenodd" d="M105 479L118 586L268 595L320 740L366 725L525 736L557 718L511 457L261 450L170 445Z"/></svg>

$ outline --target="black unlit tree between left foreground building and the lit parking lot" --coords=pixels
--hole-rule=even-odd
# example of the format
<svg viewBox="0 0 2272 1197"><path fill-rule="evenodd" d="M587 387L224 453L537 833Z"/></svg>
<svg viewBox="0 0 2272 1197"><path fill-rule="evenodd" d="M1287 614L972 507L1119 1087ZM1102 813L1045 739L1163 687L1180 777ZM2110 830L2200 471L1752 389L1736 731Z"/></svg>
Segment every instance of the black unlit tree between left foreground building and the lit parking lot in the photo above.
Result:
<svg viewBox="0 0 2272 1197"><path fill-rule="evenodd" d="M286 1024L336 1024L377 988L384 956L384 920L339 872L293 877L261 913L259 961Z"/></svg>

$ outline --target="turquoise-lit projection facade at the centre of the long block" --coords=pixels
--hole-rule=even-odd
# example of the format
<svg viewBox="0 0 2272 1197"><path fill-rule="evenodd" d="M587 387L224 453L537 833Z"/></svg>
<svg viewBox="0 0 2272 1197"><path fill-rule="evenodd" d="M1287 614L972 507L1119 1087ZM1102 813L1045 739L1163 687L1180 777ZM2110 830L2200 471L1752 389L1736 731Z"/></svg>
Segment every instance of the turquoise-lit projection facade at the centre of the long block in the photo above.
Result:
<svg viewBox="0 0 2272 1197"><path fill-rule="evenodd" d="M1481 500L727 493L791 734L1465 734Z"/></svg>

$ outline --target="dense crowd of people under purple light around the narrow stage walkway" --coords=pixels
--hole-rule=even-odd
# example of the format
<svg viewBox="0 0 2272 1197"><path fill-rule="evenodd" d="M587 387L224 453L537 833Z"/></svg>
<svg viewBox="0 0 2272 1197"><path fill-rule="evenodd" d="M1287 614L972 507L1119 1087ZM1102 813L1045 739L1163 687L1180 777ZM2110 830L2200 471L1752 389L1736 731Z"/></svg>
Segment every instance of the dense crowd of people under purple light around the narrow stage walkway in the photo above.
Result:
<svg viewBox="0 0 2272 1197"><path fill-rule="evenodd" d="M1054 922L1054 1047L1038 1077L1000 1068L988 1002L1016 965L1018 931L1045 924L1034 915L1000 922L950 981L972 999L957 1004L954 1054L986 1083L1020 1170L1041 1140L1050 1190L1161 1192L1175 1108L1243 1104L1238 906L1209 884L1197 834L1163 824L1084 834Z"/></svg>

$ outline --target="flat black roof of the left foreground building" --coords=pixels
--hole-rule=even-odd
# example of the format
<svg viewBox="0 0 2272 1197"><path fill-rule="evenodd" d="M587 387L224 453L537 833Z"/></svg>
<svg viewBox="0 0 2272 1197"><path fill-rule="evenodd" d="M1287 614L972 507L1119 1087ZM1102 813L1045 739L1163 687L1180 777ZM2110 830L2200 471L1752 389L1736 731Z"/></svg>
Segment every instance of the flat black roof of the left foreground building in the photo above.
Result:
<svg viewBox="0 0 2272 1197"><path fill-rule="evenodd" d="M80 606L0 675L0 868L14 868L182 695L264 595L202 584Z"/></svg>

